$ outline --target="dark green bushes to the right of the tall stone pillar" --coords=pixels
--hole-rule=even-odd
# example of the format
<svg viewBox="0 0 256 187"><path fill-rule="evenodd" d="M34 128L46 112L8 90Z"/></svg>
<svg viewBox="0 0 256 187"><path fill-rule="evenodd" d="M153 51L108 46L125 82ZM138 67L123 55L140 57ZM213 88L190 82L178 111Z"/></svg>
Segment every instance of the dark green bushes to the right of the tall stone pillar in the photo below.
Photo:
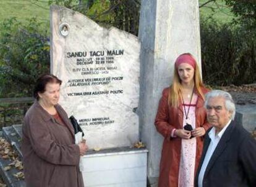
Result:
<svg viewBox="0 0 256 187"><path fill-rule="evenodd" d="M256 82L256 37L231 24L201 22L203 80L213 86Z"/></svg>

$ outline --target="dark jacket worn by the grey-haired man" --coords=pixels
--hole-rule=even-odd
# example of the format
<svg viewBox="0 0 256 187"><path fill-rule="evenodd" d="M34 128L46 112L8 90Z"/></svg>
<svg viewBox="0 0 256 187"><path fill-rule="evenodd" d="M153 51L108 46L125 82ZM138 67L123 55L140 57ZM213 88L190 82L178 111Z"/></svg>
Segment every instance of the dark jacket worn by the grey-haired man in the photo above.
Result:
<svg viewBox="0 0 256 187"><path fill-rule="evenodd" d="M195 186L198 186L198 175L210 145L210 130L207 131L203 144ZM256 186L256 141L241 124L234 121L223 133L205 170L203 187L211 186Z"/></svg>

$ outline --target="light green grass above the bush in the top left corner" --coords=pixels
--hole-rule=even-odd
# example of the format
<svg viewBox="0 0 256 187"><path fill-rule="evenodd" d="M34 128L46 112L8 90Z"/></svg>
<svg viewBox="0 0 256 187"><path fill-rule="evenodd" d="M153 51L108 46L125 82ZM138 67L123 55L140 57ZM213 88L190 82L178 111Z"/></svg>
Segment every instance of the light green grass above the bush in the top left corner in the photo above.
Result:
<svg viewBox="0 0 256 187"><path fill-rule="evenodd" d="M48 1L41 0L0 0L0 22L4 19L16 17L20 22L36 17L43 22L41 28L49 30L49 5Z"/></svg>

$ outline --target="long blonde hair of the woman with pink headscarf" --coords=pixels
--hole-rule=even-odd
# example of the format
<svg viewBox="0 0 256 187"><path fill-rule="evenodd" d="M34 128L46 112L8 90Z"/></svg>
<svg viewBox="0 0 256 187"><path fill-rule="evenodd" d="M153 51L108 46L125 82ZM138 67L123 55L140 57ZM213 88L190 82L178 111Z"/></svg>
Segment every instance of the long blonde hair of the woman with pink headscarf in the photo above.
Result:
<svg viewBox="0 0 256 187"><path fill-rule="evenodd" d="M182 54L182 55L190 55L192 58L194 58L193 55L189 53ZM195 83L195 90L200 95L200 97L202 97L203 100L205 100L205 97L201 89L201 87L204 87L204 86L203 86L203 82L200 76L200 71L197 63L195 63L194 83ZM168 97L169 106L173 106L173 107L179 106L180 104L179 99L181 98L181 88L182 88L181 79L179 78L177 68L174 66L173 84L171 84L169 89L169 97Z"/></svg>

